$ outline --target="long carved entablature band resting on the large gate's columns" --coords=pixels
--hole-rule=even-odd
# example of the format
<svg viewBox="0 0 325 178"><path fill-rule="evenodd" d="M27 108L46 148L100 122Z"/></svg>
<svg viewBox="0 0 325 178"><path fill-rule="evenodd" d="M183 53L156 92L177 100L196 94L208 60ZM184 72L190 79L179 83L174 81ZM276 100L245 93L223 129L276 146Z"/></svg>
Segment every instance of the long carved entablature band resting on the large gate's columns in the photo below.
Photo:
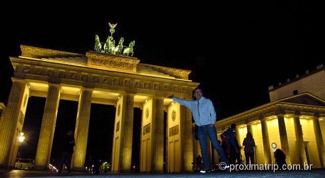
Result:
<svg viewBox="0 0 325 178"><path fill-rule="evenodd" d="M157 96L192 96L199 83L10 57L15 77Z"/></svg>

